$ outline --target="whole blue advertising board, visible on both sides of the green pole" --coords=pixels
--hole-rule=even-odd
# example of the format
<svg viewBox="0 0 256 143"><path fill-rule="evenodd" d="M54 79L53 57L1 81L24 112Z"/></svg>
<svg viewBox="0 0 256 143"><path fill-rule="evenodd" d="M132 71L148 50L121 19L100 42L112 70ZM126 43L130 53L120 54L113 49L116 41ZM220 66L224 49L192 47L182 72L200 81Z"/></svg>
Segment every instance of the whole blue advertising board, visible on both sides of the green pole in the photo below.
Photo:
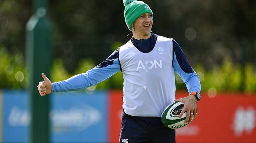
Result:
<svg viewBox="0 0 256 143"><path fill-rule="evenodd" d="M31 118L28 92L4 90L2 93L3 142L28 142ZM107 141L108 96L105 91L53 93L50 96L51 142Z"/></svg>

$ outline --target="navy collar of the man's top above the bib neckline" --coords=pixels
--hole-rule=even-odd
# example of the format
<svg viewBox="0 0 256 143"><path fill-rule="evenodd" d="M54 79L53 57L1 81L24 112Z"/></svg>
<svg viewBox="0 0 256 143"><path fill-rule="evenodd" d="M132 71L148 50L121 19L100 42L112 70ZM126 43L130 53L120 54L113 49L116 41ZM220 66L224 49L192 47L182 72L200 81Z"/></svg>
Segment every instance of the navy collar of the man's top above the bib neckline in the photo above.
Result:
<svg viewBox="0 0 256 143"><path fill-rule="evenodd" d="M131 42L140 52L148 53L152 51L156 44L157 35L151 31L151 36L148 39L140 39L137 40L135 38L131 38Z"/></svg>

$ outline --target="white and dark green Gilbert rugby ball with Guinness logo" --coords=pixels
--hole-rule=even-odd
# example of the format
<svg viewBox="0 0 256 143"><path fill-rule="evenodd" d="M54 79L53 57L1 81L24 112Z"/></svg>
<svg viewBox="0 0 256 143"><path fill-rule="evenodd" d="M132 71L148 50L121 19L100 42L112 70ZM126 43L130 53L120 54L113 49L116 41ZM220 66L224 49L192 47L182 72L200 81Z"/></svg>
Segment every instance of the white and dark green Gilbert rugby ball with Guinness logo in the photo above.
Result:
<svg viewBox="0 0 256 143"><path fill-rule="evenodd" d="M173 102L172 104L168 105L161 115L162 123L166 127L171 129L178 129L188 125L189 124L188 122L185 123L187 111L183 113L181 118L178 117L183 107L184 107L184 104L182 102ZM197 109L196 109L196 113L197 113ZM194 119L194 116L191 122L193 121L193 119Z"/></svg>

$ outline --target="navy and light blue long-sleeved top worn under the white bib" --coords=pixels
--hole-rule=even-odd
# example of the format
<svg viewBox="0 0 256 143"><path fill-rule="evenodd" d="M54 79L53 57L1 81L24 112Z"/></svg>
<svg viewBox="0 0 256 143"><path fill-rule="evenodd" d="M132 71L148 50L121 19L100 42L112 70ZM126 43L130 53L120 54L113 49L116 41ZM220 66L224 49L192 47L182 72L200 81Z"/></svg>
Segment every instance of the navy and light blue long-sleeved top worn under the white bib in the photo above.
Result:
<svg viewBox="0 0 256 143"><path fill-rule="evenodd" d="M156 34L152 32L151 37L148 39L137 40L132 38L131 41L139 51L147 53L155 46ZM173 40L173 68L186 84L189 93L200 92L201 85L199 77L190 66L184 52L175 40ZM64 81L52 83L52 92L75 91L87 88L104 81L118 71L121 71L119 49L115 50L105 61L91 70L74 75Z"/></svg>

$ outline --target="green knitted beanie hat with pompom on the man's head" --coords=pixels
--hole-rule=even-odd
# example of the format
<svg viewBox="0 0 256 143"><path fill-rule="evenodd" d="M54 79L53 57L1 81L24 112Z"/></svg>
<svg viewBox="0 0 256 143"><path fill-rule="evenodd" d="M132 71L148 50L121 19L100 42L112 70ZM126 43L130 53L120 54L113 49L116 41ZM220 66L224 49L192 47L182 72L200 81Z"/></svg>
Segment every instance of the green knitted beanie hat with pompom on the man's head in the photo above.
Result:
<svg viewBox="0 0 256 143"><path fill-rule="evenodd" d="M128 26L128 29L131 30L131 25L136 21L140 15L144 13L150 13L153 18L153 12L150 7L145 4L143 1L137 0L123 0L125 9L124 9L124 18L125 23Z"/></svg>

